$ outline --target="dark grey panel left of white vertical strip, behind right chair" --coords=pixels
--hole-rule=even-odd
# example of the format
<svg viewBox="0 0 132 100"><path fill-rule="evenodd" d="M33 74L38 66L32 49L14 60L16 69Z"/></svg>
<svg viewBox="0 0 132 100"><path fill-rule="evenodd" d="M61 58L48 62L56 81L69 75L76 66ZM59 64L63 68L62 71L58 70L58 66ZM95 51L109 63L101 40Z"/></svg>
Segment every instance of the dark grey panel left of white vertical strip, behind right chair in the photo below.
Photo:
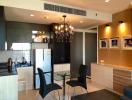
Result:
<svg viewBox="0 0 132 100"><path fill-rule="evenodd" d="M78 73L80 64L83 63L83 45L82 40L83 34L79 32L74 33L73 40L70 46L70 55L71 55L71 74Z"/></svg>

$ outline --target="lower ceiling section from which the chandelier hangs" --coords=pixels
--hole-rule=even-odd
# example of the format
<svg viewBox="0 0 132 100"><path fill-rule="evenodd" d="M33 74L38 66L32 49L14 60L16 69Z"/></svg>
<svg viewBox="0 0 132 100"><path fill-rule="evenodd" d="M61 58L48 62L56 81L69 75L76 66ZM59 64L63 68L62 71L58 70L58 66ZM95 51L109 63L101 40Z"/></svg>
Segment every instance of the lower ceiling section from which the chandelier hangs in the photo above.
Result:
<svg viewBox="0 0 132 100"><path fill-rule="evenodd" d="M34 14L34 16L31 17L30 14ZM47 16L48 19L46 18ZM7 21L28 22L37 24L52 24L60 23L63 21L62 13L40 12L12 7L5 7L5 17ZM92 20L86 17L68 14L66 21L75 28L88 28L104 23L103 21Z"/></svg>

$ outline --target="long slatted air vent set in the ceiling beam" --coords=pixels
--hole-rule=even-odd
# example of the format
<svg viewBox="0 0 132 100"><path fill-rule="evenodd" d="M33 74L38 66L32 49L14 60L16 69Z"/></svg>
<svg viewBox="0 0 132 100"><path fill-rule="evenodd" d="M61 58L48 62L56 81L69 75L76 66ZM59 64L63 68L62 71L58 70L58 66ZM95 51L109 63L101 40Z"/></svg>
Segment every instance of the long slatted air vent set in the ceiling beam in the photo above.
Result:
<svg viewBox="0 0 132 100"><path fill-rule="evenodd" d="M44 10L86 16L85 10L74 9L74 8L69 8L69 7L64 7L64 6L58 6L58 5L48 4L48 3L44 3Z"/></svg>

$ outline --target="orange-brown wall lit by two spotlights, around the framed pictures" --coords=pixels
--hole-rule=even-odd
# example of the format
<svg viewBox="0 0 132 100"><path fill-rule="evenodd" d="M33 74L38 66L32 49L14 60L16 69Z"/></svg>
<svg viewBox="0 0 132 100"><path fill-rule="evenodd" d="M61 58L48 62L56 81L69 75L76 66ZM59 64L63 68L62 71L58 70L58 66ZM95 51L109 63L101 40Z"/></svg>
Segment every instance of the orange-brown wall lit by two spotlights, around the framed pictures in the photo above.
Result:
<svg viewBox="0 0 132 100"><path fill-rule="evenodd" d="M119 21L124 21L124 26L119 24ZM99 39L122 37L132 35L132 9L127 9L122 12L113 14L113 21L107 31L106 24L99 26ZM123 29L124 28L124 29ZM99 62L104 60L104 64L112 64L118 66L126 66L132 68L132 50L119 49L99 49Z"/></svg>

